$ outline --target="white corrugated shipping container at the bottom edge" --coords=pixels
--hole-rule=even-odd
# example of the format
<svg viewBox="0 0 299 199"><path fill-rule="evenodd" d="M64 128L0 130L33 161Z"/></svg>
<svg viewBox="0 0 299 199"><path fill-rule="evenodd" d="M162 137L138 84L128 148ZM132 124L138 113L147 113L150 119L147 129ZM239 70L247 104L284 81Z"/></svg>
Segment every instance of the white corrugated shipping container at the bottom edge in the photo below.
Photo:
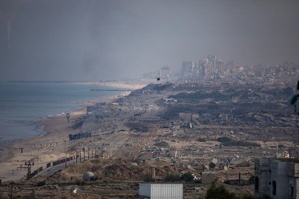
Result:
<svg viewBox="0 0 299 199"><path fill-rule="evenodd" d="M183 184L139 184L139 199L183 199Z"/></svg>

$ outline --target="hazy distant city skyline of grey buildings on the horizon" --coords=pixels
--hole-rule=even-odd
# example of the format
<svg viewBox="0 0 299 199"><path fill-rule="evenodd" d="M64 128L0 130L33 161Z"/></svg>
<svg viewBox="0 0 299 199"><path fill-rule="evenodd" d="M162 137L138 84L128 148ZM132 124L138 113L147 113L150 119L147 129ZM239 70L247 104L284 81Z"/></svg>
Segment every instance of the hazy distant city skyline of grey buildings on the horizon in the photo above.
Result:
<svg viewBox="0 0 299 199"><path fill-rule="evenodd" d="M299 64L285 61L277 65L260 64L254 66L235 65L233 60L224 62L215 55L208 55L198 62L183 61L179 73L173 73L171 66L163 66L159 71L146 73L143 79L223 81L230 84L280 84L291 83L299 77ZM293 82L294 83L294 82Z"/></svg>

